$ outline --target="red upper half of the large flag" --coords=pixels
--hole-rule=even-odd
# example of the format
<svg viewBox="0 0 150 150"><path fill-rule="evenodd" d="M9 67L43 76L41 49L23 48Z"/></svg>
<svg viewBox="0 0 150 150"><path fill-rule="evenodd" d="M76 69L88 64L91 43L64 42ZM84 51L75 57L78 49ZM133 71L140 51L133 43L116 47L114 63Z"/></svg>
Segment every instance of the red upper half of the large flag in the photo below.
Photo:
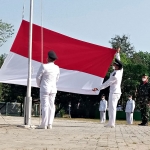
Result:
<svg viewBox="0 0 150 150"><path fill-rule="evenodd" d="M55 62L63 69L77 70L105 77L116 51L114 49L83 42L43 28L43 61L54 50ZM11 51L28 57L29 22L22 21ZM41 62L41 27L33 24L32 59Z"/></svg>

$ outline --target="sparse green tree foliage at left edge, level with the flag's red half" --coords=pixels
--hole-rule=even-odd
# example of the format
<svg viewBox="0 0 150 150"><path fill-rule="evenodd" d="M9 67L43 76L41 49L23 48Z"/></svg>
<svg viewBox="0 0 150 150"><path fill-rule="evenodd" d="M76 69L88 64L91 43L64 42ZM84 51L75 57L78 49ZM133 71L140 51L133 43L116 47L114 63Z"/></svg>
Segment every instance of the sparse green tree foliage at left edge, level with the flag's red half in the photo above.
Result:
<svg viewBox="0 0 150 150"><path fill-rule="evenodd" d="M0 20L0 46L2 46L8 38L14 34L13 25Z"/></svg>

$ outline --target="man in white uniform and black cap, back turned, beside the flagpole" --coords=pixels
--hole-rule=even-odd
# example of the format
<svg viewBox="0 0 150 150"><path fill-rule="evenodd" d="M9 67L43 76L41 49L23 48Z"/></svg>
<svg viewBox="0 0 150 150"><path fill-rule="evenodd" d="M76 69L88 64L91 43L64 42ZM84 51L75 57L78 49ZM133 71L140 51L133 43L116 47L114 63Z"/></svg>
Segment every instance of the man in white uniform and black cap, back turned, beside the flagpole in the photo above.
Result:
<svg viewBox="0 0 150 150"><path fill-rule="evenodd" d="M57 93L56 82L60 70L54 61L57 55L54 51L48 52L47 64L42 64L36 76L37 85L40 87L40 101L42 106L42 122L38 129L52 129L55 115L55 97Z"/></svg>

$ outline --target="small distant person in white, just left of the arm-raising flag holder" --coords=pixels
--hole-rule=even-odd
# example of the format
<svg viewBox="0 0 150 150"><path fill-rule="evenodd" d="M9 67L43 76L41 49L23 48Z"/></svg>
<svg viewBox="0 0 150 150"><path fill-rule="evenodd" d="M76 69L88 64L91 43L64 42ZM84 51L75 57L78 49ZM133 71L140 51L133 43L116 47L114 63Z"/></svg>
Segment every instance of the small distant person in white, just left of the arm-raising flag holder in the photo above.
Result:
<svg viewBox="0 0 150 150"><path fill-rule="evenodd" d="M101 123L105 123L106 121L106 109L107 109L107 101L105 100L105 95L103 94L99 105Z"/></svg>

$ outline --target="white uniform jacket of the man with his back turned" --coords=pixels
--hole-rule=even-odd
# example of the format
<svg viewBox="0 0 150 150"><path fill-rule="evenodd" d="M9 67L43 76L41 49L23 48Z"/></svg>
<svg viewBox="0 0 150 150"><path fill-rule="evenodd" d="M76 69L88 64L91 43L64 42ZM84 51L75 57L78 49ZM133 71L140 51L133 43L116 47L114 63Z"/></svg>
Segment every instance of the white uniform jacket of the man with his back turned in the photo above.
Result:
<svg viewBox="0 0 150 150"><path fill-rule="evenodd" d="M59 79L60 69L53 62L42 64L36 76L40 92L57 93L56 82Z"/></svg>

